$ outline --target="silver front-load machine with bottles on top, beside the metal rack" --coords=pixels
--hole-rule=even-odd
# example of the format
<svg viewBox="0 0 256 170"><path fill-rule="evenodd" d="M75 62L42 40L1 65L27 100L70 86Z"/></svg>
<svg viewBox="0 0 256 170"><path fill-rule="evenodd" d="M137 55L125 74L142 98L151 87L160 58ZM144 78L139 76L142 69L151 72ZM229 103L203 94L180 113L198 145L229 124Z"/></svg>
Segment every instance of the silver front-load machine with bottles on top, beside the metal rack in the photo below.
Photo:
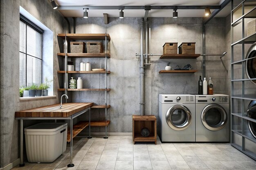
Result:
<svg viewBox="0 0 256 170"><path fill-rule="evenodd" d="M229 96L195 95L195 141L229 142Z"/></svg>

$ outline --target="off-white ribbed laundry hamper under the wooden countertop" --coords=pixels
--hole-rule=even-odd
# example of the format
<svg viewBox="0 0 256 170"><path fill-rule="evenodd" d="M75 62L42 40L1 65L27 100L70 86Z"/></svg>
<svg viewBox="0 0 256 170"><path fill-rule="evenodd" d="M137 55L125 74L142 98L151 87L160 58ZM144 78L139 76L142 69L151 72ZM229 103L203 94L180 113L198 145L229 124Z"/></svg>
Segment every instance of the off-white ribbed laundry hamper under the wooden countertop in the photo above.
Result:
<svg viewBox="0 0 256 170"><path fill-rule="evenodd" d="M29 162L50 163L67 147L67 123L40 123L24 129Z"/></svg>

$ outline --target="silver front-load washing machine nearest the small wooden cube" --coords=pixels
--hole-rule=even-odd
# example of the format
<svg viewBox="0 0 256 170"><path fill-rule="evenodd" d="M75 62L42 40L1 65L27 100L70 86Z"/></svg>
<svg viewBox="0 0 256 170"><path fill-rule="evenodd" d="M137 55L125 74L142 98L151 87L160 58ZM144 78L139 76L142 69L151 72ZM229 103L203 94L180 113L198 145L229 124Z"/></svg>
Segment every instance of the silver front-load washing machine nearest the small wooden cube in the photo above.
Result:
<svg viewBox="0 0 256 170"><path fill-rule="evenodd" d="M195 142L195 95L159 95L162 142Z"/></svg>

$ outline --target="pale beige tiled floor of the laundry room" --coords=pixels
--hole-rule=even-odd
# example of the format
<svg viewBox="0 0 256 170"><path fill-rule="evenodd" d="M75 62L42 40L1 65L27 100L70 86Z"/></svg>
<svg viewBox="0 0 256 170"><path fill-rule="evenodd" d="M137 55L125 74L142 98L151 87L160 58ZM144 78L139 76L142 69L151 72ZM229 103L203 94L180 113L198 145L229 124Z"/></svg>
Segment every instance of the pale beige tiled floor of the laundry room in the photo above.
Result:
<svg viewBox="0 0 256 170"><path fill-rule="evenodd" d="M256 161L230 144L132 144L132 137L74 139L74 167L69 163L69 145L64 155L53 163L26 163L14 169L40 170L256 170Z"/></svg>

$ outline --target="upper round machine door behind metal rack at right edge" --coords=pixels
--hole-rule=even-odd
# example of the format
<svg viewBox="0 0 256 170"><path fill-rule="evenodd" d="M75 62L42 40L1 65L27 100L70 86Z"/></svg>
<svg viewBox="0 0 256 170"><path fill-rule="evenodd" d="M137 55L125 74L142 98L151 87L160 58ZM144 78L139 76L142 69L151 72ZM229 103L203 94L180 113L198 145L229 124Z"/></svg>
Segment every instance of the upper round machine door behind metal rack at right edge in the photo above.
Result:
<svg viewBox="0 0 256 170"><path fill-rule="evenodd" d="M252 44L246 54L245 71L249 79L256 78L256 42ZM252 83L256 84L256 80L251 80Z"/></svg>

